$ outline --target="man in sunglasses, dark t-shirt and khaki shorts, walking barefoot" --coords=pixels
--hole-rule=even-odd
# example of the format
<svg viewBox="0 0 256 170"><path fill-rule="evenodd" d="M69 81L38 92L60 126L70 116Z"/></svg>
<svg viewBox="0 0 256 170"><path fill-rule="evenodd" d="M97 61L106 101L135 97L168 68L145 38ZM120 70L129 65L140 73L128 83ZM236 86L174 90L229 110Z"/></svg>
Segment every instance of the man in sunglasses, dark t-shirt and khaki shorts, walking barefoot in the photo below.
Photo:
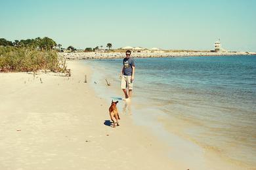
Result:
<svg viewBox="0 0 256 170"><path fill-rule="evenodd" d="M131 99L131 91L133 90L133 80L135 75L135 62L131 58L131 51L125 52L126 58L123 59L123 69L121 70L121 89L125 93L125 101ZM128 88L128 93L127 93Z"/></svg>

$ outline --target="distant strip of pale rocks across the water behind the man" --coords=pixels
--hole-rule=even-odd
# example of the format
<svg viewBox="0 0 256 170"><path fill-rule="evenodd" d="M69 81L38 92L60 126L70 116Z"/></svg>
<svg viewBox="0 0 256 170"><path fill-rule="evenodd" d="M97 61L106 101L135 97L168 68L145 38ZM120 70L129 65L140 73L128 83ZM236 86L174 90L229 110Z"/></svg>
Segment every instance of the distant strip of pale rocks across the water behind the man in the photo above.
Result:
<svg viewBox="0 0 256 170"><path fill-rule="evenodd" d="M124 52L60 52L66 59L118 59ZM256 56L256 52L132 52L133 58L171 58L192 56Z"/></svg>

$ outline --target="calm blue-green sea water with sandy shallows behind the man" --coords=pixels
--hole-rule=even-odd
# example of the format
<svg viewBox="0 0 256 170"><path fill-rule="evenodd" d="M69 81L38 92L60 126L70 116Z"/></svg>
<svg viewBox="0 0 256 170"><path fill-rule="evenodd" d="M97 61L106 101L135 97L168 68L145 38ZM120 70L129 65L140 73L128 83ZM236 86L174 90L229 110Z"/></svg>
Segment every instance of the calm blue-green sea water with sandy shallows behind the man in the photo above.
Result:
<svg viewBox="0 0 256 170"><path fill-rule="evenodd" d="M123 97L122 59L84 62L93 68L98 93ZM256 56L144 58L135 64L133 114L154 110L170 133L256 166ZM108 92L99 88L105 78L112 82Z"/></svg>

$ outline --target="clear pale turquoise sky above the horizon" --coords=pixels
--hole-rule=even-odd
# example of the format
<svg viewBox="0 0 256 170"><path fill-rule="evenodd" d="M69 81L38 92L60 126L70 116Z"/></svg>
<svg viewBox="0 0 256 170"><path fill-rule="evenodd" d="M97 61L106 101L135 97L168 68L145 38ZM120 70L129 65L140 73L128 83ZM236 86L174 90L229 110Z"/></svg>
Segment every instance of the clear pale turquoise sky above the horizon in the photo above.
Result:
<svg viewBox="0 0 256 170"><path fill-rule="evenodd" d="M256 51L256 1L0 1L0 37L106 46Z"/></svg>

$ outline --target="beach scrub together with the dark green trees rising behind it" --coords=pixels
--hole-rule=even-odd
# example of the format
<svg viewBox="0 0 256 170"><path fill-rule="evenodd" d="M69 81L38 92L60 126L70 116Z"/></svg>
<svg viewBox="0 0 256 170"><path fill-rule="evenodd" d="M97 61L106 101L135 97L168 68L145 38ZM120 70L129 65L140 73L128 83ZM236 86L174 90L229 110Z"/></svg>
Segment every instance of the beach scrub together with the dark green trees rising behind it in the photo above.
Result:
<svg viewBox="0 0 256 170"><path fill-rule="evenodd" d="M40 69L65 72L66 61L54 50L56 42L44 37L41 39L15 40L0 39L0 72L30 72Z"/></svg>

